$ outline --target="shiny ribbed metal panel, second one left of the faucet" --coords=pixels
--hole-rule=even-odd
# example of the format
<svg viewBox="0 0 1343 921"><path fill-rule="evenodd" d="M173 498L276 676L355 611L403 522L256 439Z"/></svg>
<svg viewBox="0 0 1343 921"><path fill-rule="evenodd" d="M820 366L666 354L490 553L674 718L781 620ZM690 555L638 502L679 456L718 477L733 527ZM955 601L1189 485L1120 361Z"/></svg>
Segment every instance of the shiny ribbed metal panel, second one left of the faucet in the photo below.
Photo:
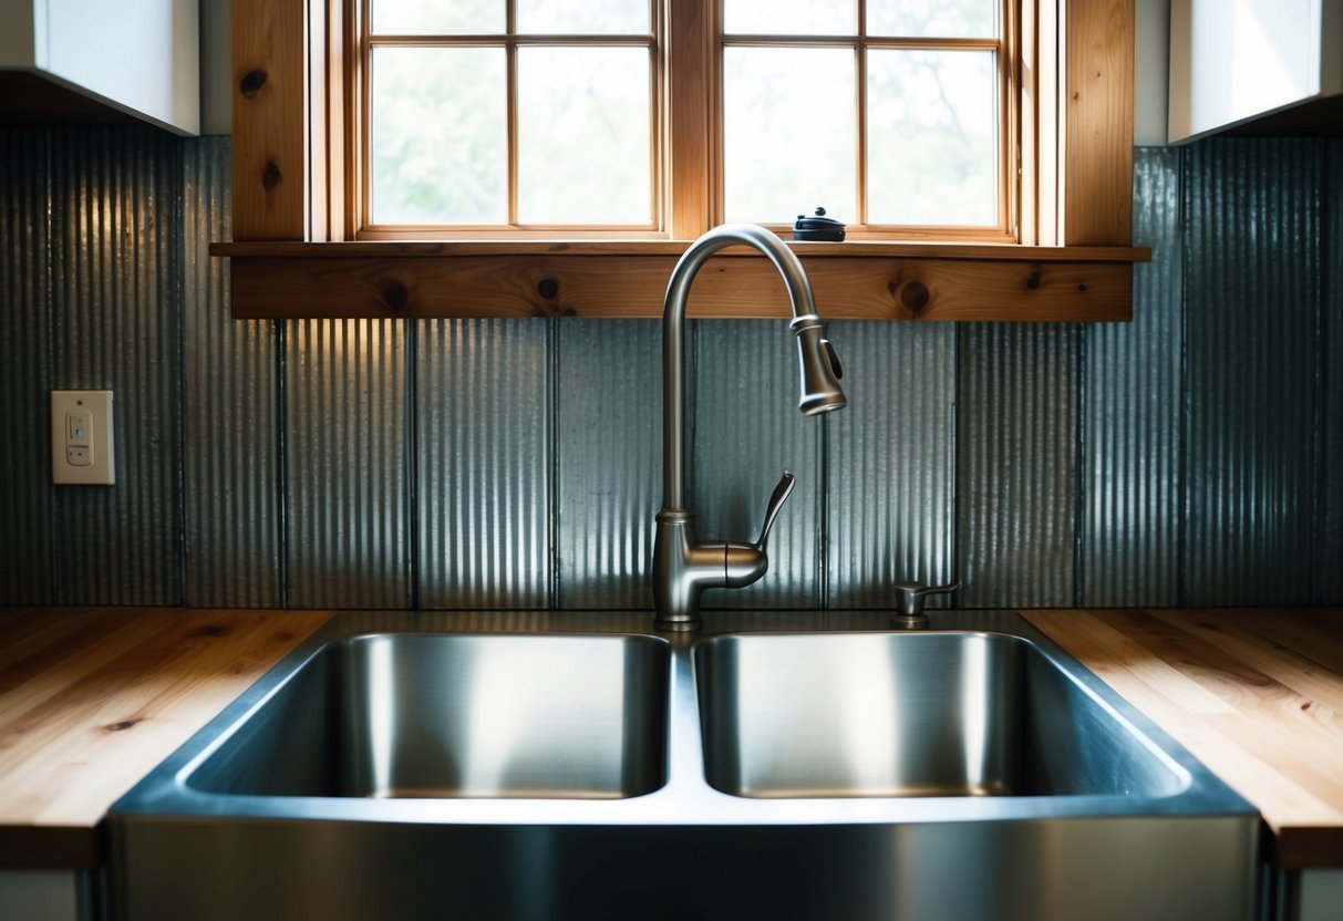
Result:
<svg viewBox="0 0 1343 921"><path fill-rule="evenodd" d="M548 325L419 326L419 603L544 608L549 561Z"/></svg>

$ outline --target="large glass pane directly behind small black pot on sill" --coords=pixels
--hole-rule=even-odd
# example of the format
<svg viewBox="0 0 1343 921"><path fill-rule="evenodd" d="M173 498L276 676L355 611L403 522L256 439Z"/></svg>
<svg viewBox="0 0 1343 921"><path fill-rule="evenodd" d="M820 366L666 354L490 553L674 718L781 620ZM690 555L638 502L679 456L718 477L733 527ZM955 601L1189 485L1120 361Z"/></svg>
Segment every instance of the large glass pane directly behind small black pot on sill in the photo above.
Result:
<svg viewBox="0 0 1343 921"><path fill-rule="evenodd" d="M847 48L724 50L727 220L791 224L818 205L854 219L854 82Z"/></svg>

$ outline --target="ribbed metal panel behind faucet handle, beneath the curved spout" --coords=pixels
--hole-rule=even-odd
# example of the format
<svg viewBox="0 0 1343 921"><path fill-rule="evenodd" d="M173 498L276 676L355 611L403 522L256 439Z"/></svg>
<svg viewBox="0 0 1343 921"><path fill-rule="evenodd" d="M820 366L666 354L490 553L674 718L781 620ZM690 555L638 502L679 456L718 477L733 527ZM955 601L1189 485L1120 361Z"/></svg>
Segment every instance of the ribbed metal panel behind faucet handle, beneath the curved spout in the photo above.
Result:
<svg viewBox="0 0 1343 921"><path fill-rule="evenodd" d="M692 326L686 502L700 538L756 540L779 475L796 477L770 534L770 572L753 585L706 593L704 607L821 607L821 426L829 420L798 412L796 340L782 320Z"/></svg>

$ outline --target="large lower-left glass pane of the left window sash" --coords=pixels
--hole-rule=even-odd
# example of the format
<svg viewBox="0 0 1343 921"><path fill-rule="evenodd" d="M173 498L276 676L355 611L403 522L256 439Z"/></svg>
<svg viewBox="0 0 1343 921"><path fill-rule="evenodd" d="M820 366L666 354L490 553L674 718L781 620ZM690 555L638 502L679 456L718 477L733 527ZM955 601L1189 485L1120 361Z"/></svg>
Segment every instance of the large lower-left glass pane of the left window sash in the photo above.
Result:
<svg viewBox="0 0 1343 921"><path fill-rule="evenodd" d="M502 48L375 48L372 222L508 223Z"/></svg>

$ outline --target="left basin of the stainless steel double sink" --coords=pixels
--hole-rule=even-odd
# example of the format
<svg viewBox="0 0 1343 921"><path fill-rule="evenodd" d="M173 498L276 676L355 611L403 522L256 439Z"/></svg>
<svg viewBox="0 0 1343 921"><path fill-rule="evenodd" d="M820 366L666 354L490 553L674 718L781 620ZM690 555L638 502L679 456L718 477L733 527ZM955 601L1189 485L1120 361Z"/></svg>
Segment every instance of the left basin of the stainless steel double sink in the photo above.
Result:
<svg viewBox="0 0 1343 921"><path fill-rule="evenodd" d="M639 796L666 781L669 661L649 636L336 639L180 779L240 796Z"/></svg>

